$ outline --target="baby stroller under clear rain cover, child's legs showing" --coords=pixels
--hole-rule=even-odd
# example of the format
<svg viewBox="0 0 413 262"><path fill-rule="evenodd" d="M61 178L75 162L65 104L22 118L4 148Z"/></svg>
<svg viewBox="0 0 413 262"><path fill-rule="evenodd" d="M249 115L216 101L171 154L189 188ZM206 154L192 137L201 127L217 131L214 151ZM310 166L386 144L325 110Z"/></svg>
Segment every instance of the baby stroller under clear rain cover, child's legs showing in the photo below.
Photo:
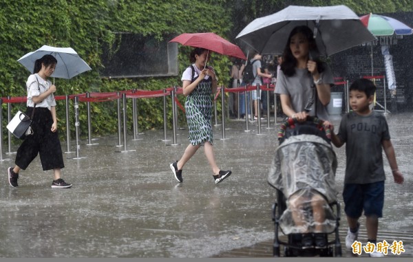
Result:
<svg viewBox="0 0 413 262"><path fill-rule="evenodd" d="M288 118L279 129L279 146L268 174L268 183L277 190L273 256L280 256L280 245L284 256L341 256L337 157L323 122L315 117L306 122ZM279 230L286 241L279 238Z"/></svg>

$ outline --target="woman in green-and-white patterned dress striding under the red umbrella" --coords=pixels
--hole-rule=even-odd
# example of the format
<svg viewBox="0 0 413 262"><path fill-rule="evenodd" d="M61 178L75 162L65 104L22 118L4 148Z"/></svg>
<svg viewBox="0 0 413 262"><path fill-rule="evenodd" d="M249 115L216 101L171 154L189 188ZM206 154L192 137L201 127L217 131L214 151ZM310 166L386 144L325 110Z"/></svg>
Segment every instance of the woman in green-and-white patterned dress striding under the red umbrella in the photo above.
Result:
<svg viewBox="0 0 413 262"><path fill-rule="evenodd" d="M182 89L185 101L185 114L189 129L189 146L179 161L173 162L171 170L175 178L182 182L182 168L191 157L204 146L204 152L213 171L215 184L231 175L231 171L221 171L215 162L212 136L212 101L211 94L217 91L217 78L212 67L206 66L209 50L196 47L190 54L193 63L182 74Z"/></svg>

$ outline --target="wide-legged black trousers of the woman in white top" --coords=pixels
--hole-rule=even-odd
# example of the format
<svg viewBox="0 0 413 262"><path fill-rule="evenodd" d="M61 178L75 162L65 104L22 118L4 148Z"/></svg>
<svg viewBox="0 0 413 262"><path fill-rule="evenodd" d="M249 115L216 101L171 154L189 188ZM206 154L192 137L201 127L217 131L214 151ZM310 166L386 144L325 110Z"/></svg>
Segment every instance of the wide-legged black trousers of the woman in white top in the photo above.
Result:
<svg viewBox="0 0 413 262"><path fill-rule="evenodd" d="M33 107L28 107L26 113L32 116ZM63 153L58 131L52 132L53 118L49 109L36 107L32 120L33 135L28 135L17 149L15 164L25 170L29 164L40 155L43 171L63 168Z"/></svg>

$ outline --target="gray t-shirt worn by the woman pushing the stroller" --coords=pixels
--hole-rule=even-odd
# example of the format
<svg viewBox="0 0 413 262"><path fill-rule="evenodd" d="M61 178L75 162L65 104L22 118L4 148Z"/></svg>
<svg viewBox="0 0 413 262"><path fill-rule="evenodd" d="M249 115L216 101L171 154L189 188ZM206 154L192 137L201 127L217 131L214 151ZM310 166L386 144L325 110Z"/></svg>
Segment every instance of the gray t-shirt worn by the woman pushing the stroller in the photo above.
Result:
<svg viewBox="0 0 413 262"><path fill-rule="evenodd" d="M326 64L324 72L320 74L322 83L334 85L334 79L330 67ZM275 85L275 93L286 94L290 96L291 105L296 112L302 112L306 108L308 100L313 97L314 89L313 76L307 69L295 69L293 76L287 77L282 70L279 70L277 76L277 84ZM310 111L310 116L317 116L322 120L328 120L327 107L321 104L317 98L317 113L315 113L315 103Z"/></svg>

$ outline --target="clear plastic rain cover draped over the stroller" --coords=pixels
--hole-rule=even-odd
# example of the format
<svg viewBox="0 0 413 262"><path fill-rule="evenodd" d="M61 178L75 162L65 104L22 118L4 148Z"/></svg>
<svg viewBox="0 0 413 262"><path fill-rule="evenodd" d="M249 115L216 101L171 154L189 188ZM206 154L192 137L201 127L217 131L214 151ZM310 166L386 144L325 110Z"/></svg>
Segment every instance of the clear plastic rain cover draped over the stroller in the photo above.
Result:
<svg viewBox="0 0 413 262"><path fill-rule="evenodd" d="M286 199L286 210L279 218L284 234L316 232L317 223L322 225L322 232L335 230L336 215L329 204L337 200L336 169L332 146L317 135L290 136L277 147L268 183ZM322 201L324 222L315 221L313 201Z"/></svg>

